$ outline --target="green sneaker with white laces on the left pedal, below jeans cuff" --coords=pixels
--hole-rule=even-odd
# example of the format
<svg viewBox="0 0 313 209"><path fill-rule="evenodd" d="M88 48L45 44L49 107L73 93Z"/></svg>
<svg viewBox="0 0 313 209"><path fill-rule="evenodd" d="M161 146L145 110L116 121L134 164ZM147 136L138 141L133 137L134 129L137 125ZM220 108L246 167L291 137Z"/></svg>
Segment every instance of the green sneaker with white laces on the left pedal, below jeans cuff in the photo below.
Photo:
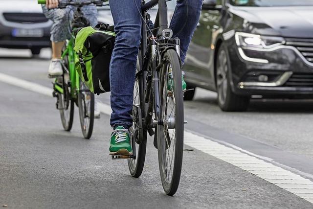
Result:
<svg viewBox="0 0 313 209"><path fill-rule="evenodd" d="M110 155L129 155L133 154L130 144L129 130L123 126L117 126L111 134Z"/></svg>

